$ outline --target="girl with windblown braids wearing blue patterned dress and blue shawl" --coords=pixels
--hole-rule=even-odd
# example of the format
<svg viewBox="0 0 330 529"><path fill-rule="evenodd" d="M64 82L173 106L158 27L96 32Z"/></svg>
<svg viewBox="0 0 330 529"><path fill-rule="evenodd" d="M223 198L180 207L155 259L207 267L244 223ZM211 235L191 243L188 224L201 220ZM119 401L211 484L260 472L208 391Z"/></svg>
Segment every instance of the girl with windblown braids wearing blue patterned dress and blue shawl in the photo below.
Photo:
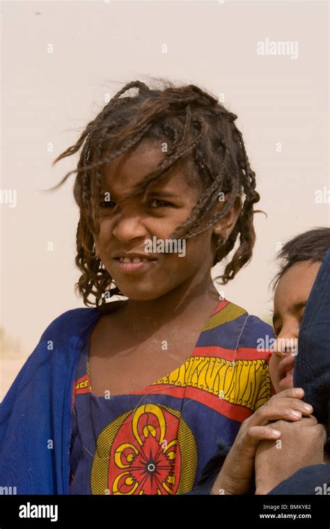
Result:
<svg viewBox="0 0 330 529"><path fill-rule="evenodd" d="M269 399L257 342L272 329L219 300L210 274L234 250L232 280L256 239L236 118L198 86L134 81L54 161L82 147L58 185L77 173L77 289L91 308L47 327L3 400L1 486L183 494Z"/></svg>

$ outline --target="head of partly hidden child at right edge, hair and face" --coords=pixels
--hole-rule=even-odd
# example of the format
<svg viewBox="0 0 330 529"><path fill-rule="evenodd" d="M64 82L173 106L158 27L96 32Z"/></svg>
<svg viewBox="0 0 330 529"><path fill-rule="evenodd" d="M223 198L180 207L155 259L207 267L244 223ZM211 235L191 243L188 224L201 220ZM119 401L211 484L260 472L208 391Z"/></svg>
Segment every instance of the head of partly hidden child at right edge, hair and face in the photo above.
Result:
<svg viewBox="0 0 330 529"><path fill-rule="evenodd" d="M330 228L317 228L294 237L279 253L281 269L275 278L273 315L277 341L269 363L276 393L293 387L301 319L317 272L329 248Z"/></svg>

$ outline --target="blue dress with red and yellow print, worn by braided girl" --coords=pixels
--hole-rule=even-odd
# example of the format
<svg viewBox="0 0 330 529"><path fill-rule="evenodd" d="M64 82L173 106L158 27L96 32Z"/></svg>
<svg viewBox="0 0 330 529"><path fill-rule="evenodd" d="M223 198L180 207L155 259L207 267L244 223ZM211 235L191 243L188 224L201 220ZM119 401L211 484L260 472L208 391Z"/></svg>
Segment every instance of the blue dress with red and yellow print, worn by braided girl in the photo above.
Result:
<svg viewBox="0 0 330 529"><path fill-rule="evenodd" d="M219 440L233 444L242 420L270 397L269 326L223 300L192 354L154 384L125 395L94 395L90 337L72 394L69 494L184 494Z"/></svg>

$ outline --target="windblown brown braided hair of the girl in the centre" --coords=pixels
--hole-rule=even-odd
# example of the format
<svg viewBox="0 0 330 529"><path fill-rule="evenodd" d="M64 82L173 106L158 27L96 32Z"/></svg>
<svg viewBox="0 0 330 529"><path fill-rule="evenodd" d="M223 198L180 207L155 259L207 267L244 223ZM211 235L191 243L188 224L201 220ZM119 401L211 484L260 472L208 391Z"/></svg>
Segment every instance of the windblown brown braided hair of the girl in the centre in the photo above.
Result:
<svg viewBox="0 0 330 529"><path fill-rule="evenodd" d="M154 81L156 78L152 78ZM226 241L217 248L212 266L221 261L235 246L239 246L226 265L222 284L226 284L251 260L256 233L253 228L253 204L260 200L256 191L256 174L251 170L242 133L229 112L216 97L198 86L175 87L167 79L158 79L161 88L149 88L141 81L126 84L112 97L96 118L88 123L75 145L61 153L53 165L82 148L77 169L70 171L52 189L61 186L72 173L74 199L80 210L77 227L75 262L82 275L75 287L88 300L95 297L98 306L102 294L121 294L100 258L95 255L95 235L100 232L99 204L101 198L101 166L127 152L133 145L146 141L169 143L168 152L156 170L146 175L130 197L146 192L156 179L164 177L178 161L184 161L184 173L194 179L201 189L197 205L172 237L189 239L205 232L228 214L237 196L244 196L242 212ZM120 97L130 88L138 88L134 97ZM135 189L135 188L134 188ZM231 196L221 212L212 214L212 207L221 193ZM115 287L111 288L111 285ZM104 299L102 303L104 302Z"/></svg>

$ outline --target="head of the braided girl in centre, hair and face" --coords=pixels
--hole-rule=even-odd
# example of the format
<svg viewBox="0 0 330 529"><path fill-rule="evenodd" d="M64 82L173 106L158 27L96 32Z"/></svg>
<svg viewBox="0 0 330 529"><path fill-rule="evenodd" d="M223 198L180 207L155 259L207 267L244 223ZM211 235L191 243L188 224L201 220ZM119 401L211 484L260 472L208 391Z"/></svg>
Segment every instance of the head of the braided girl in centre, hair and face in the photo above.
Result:
<svg viewBox="0 0 330 529"><path fill-rule="evenodd" d="M77 288L86 305L104 292L146 301L180 285L203 288L237 239L222 283L251 259L260 197L237 116L197 86L163 83L124 86L54 161L84 143L77 170L58 185L77 172ZM129 88L139 93L120 97ZM176 246L162 246L169 239ZM120 262L134 253L148 260Z"/></svg>

